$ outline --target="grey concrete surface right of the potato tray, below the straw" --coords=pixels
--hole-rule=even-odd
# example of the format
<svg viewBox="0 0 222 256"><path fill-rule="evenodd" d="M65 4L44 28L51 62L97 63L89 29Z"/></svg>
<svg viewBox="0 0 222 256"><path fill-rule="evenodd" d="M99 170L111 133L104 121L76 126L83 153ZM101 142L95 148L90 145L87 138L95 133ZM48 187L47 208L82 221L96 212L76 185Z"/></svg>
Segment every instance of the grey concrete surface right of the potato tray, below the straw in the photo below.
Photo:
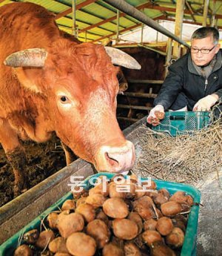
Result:
<svg viewBox="0 0 222 256"><path fill-rule="evenodd" d="M219 177L218 177L219 176ZM198 256L222 255L222 169L197 185L201 191Z"/></svg>

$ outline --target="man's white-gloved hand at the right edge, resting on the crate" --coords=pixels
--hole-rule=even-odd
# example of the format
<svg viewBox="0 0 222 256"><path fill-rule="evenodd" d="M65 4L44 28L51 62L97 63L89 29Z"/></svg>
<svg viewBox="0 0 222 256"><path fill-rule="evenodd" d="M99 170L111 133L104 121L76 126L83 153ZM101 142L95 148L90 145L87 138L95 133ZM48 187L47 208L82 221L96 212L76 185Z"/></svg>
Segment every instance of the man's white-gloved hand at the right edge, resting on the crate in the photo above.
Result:
<svg viewBox="0 0 222 256"><path fill-rule="evenodd" d="M193 111L210 111L210 108L215 105L218 101L219 96L217 94L208 95L200 100L195 104L193 107Z"/></svg>

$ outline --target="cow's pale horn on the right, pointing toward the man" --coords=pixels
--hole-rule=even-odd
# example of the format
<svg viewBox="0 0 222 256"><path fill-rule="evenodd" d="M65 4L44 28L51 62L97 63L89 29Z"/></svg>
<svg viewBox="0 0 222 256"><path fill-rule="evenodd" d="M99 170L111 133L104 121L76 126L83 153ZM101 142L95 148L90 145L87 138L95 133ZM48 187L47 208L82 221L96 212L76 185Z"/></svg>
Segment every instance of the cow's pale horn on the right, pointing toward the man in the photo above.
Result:
<svg viewBox="0 0 222 256"><path fill-rule="evenodd" d="M124 51L119 50L115 47L105 46L107 54L111 57L112 63L115 65L123 66L131 69L141 69L141 65Z"/></svg>

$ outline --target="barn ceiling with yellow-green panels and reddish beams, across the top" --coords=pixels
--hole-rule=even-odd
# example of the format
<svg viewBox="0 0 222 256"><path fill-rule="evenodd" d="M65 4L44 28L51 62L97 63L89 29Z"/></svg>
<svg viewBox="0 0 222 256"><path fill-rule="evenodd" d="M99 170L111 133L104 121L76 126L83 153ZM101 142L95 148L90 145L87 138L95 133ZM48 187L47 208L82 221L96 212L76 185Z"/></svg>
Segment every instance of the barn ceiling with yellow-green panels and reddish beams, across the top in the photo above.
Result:
<svg viewBox="0 0 222 256"><path fill-rule="evenodd" d="M16 0L24 2L25 0ZM179 1L183 3L183 12L179 13L183 23L213 25L222 29L222 0L29 0L40 4L55 13L55 21L61 30L74 34L82 42L104 43L118 39L118 36L138 29L143 25L130 15L122 3L135 7L151 22L159 20L175 21L180 12ZM0 6L15 2L0 0ZM117 9L116 7L120 6ZM112 4L112 5L111 5ZM126 10L126 11L124 11ZM204 23L205 22L205 23ZM183 43L183 42L182 42Z"/></svg>

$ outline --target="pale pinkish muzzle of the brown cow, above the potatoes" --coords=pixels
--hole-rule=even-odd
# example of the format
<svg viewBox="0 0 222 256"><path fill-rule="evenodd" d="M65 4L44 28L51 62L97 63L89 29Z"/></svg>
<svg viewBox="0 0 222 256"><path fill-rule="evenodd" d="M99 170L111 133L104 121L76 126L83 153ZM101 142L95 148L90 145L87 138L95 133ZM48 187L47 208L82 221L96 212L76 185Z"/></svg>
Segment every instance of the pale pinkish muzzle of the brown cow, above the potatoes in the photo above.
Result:
<svg viewBox="0 0 222 256"><path fill-rule="evenodd" d="M128 140L120 147L102 146L95 157L97 171L120 173L129 171L135 163L135 148Z"/></svg>

